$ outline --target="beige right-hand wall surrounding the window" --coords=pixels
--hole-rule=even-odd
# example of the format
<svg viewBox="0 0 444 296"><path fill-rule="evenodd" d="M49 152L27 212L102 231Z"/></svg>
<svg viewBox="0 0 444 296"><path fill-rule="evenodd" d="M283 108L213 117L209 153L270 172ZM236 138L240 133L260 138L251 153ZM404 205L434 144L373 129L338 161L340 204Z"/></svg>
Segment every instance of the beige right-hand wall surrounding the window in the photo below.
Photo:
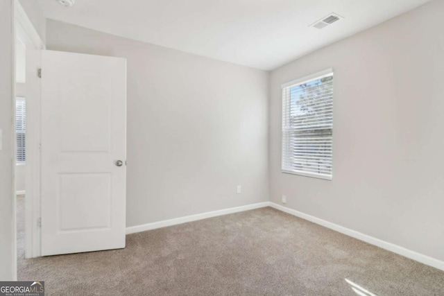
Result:
<svg viewBox="0 0 444 296"><path fill-rule="evenodd" d="M271 200L444 260L444 1L271 73ZM280 172L283 82L334 69L333 180Z"/></svg>

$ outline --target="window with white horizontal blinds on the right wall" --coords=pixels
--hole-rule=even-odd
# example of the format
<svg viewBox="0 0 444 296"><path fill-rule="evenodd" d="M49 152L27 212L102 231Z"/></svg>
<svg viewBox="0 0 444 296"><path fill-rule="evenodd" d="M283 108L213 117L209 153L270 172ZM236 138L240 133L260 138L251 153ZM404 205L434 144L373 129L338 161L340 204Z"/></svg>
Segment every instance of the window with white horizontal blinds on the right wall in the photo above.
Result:
<svg viewBox="0 0 444 296"><path fill-rule="evenodd" d="M332 180L333 71L282 85L282 172Z"/></svg>

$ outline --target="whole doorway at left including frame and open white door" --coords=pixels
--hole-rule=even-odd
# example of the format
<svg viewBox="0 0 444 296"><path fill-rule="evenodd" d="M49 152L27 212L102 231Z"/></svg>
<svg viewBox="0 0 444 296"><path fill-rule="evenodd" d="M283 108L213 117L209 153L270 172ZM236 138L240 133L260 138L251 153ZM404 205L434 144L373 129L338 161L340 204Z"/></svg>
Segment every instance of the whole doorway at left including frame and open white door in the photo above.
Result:
<svg viewBox="0 0 444 296"><path fill-rule="evenodd" d="M126 60L43 50L15 3L19 259L125 247Z"/></svg>

